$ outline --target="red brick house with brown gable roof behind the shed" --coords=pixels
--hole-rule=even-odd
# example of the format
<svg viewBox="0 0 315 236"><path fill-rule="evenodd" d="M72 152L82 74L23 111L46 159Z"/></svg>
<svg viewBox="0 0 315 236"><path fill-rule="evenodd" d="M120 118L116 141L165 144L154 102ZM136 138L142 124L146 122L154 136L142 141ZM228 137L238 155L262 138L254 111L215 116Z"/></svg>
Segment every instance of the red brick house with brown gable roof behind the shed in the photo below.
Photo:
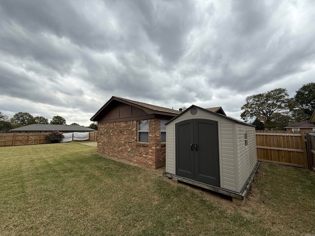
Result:
<svg viewBox="0 0 315 236"><path fill-rule="evenodd" d="M224 114L221 107L210 108ZM105 157L158 169L165 166L165 123L181 112L111 97L91 118L98 121L97 152Z"/></svg>

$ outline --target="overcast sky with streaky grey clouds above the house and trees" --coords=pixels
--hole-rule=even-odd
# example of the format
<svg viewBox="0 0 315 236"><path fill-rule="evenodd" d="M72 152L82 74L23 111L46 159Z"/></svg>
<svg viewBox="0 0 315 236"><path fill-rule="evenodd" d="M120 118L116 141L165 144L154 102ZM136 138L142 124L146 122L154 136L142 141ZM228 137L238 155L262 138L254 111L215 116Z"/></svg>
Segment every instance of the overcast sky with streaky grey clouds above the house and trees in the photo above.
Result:
<svg viewBox="0 0 315 236"><path fill-rule="evenodd" d="M315 81L314 0L0 0L0 111L89 125L111 96L221 106Z"/></svg>

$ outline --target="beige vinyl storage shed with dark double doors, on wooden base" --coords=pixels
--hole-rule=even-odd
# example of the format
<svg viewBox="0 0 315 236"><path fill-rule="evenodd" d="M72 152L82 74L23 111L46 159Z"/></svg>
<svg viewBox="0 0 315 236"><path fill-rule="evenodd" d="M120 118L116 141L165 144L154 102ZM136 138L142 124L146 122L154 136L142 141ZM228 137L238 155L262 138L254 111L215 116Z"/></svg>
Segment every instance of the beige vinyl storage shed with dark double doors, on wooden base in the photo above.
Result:
<svg viewBox="0 0 315 236"><path fill-rule="evenodd" d="M251 124L194 105L166 123L165 177L243 205L258 166Z"/></svg>

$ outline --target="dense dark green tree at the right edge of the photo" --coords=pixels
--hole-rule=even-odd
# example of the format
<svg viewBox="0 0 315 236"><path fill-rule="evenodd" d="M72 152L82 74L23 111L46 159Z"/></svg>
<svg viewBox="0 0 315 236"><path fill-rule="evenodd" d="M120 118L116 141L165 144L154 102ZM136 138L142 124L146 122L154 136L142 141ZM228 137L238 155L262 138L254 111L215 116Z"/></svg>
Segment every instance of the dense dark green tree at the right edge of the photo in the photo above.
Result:
<svg viewBox="0 0 315 236"><path fill-rule="evenodd" d="M309 119L315 110L315 83L303 85L298 89L289 105L296 122Z"/></svg>

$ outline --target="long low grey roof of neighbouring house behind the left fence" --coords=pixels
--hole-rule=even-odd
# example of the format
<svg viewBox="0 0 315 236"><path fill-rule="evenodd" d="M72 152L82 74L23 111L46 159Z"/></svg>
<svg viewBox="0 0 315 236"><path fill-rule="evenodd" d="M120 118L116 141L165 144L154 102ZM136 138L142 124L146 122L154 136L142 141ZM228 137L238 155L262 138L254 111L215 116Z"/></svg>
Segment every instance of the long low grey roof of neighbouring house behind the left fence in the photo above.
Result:
<svg viewBox="0 0 315 236"><path fill-rule="evenodd" d="M19 128L10 129L10 131L28 131L28 132L43 132L43 131L53 131L53 130L59 130L59 131L69 131L69 132L75 132L75 131L96 131L95 129L91 129L88 127L84 127L81 125L63 125L63 124L29 124L25 125Z"/></svg>

